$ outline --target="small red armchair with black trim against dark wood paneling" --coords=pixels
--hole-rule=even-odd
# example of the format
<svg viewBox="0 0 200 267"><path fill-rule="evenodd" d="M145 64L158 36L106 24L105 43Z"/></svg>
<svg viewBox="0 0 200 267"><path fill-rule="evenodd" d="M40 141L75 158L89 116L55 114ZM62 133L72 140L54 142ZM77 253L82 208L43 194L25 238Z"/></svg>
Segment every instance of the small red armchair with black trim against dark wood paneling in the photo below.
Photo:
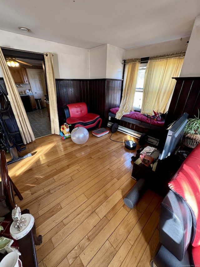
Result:
<svg viewBox="0 0 200 267"><path fill-rule="evenodd" d="M68 104L63 108L66 116L66 122L73 128L82 126L88 130L101 126L102 119L99 115L90 113L86 103Z"/></svg>

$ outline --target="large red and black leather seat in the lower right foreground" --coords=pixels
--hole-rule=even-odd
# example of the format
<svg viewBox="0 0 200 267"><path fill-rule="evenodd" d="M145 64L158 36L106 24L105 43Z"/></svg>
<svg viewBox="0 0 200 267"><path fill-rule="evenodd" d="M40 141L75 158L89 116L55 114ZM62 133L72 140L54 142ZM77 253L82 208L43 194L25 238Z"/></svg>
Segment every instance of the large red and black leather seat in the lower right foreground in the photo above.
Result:
<svg viewBox="0 0 200 267"><path fill-rule="evenodd" d="M200 144L169 182L161 203L158 247L151 266L200 264Z"/></svg>

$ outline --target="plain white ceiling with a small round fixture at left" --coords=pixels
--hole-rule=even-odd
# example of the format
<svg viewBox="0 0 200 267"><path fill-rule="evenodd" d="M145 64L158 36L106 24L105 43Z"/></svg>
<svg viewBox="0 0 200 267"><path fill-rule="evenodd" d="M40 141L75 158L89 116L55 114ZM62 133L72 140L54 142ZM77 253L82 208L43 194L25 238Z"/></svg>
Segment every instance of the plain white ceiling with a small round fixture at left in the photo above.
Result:
<svg viewBox="0 0 200 267"><path fill-rule="evenodd" d="M0 6L1 30L85 49L190 36L200 15L200 0L0 0Z"/></svg>

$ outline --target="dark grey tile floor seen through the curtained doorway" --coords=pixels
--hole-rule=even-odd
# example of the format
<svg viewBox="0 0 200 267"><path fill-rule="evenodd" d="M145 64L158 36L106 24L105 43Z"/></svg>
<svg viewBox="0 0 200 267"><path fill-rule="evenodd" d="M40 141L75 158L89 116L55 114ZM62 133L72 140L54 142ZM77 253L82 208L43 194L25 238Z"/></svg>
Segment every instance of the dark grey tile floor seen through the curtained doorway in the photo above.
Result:
<svg viewBox="0 0 200 267"><path fill-rule="evenodd" d="M51 134L51 124L46 107L41 110L27 112L27 116L35 138Z"/></svg>

